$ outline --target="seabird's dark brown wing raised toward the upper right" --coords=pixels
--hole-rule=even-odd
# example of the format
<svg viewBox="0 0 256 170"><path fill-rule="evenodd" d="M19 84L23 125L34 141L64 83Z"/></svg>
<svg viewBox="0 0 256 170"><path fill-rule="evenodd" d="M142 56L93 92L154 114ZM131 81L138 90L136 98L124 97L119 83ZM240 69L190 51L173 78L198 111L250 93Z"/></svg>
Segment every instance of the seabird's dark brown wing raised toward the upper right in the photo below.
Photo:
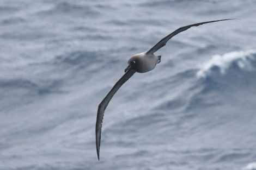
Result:
<svg viewBox="0 0 256 170"><path fill-rule="evenodd" d="M235 20L235 19L225 19L225 20ZM225 21L225 20L206 21L206 22L194 23L194 24L191 24L191 25L188 25L188 26L180 27L179 29L176 29L174 32L170 33L169 35L163 37L159 42L156 43L155 46L153 46L152 48L149 49L149 51L147 51L147 54L155 53L157 50L159 50L160 48L165 46L167 41L169 39L171 39L174 35L179 34L181 32L184 32L185 30L187 30L190 27L200 26L200 25L205 24L205 23Z"/></svg>

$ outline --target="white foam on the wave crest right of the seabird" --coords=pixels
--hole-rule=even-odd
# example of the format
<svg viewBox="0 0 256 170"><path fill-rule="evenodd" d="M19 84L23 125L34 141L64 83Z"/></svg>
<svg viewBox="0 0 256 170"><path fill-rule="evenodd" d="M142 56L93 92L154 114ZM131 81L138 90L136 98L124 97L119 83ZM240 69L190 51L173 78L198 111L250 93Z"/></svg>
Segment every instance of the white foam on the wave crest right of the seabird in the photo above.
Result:
<svg viewBox="0 0 256 170"><path fill-rule="evenodd" d="M221 74L225 74L228 70L230 65L233 62L243 70L250 71L253 69L251 65L251 61L255 60L256 58L253 56L256 54L256 50L249 50L249 51L240 51L240 52L230 52L224 55L214 55L209 62L206 62L202 68L197 72L198 78L205 78L206 75L211 73L211 68L217 66L220 68Z"/></svg>

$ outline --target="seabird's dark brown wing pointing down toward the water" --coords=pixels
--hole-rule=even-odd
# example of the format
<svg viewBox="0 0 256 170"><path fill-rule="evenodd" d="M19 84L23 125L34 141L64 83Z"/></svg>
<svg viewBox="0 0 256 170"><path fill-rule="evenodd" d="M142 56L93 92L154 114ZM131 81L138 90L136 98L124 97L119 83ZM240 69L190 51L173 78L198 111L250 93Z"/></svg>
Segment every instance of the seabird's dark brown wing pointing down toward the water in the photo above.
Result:
<svg viewBox="0 0 256 170"><path fill-rule="evenodd" d="M101 101L99 104L99 108L97 111L97 120L96 120L96 149L97 149L97 156L98 160L100 160L100 137L101 137L101 127L102 121L104 116L104 111L107 108L108 103L110 102L111 98L114 96L115 92L130 78L136 71L130 69L125 72L125 74L115 83L112 89L107 93L107 96Z"/></svg>

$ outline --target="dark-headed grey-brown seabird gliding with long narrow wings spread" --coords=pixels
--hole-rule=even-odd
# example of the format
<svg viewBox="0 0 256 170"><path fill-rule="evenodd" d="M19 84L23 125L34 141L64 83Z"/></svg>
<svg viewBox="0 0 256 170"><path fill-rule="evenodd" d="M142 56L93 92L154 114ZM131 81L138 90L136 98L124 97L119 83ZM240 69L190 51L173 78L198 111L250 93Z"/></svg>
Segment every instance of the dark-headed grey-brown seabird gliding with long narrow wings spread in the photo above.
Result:
<svg viewBox="0 0 256 170"><path fill-rule="evenodd" d="M234 19L225 19L225 20L234 20ZM218 21L225 21L225 20L215 20L215 21L206 21L191 24L188 26L180 27L176 29L174 32L170 33L169 35L163 37L159 42L156 43L153 47L151 47L147 52L139 53L133 55L128 60L128 66L125 68L124 75L115 83L112 89L107 93L107 96L103 98L101 103L99 104L97 110L97 119L96 119L96 150L97 150L97 158L100 160L100 138L101 138L101 127L102 127L102 120L104 116L104 111L107 108L107 105L111 98L114 96L115 92L136 72L138 73L145 73L151 71L155 68L159 62L161 62L161 55L155 55L154 53L166 45L167 41L171 39L174 35L184 32L190 27L200 26L205 23L210 22L218 22Z"/></svg>

